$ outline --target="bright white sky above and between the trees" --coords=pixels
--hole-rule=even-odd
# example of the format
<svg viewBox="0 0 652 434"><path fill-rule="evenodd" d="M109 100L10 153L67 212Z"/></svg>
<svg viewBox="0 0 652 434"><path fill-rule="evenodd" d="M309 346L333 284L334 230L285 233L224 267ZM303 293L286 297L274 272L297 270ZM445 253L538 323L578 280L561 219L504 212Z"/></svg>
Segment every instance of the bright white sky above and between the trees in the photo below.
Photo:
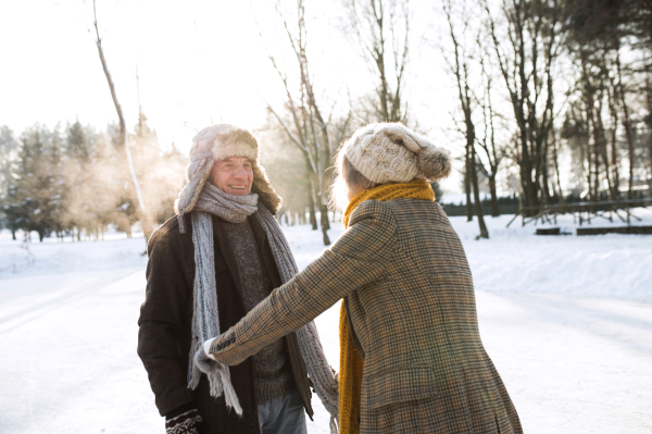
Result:
<svg viewBox="0 0 652 434"><path fill-rule="evenodd" d="M274 4L99 0L100 36L128 129L134 129L140 103L161 145L175 142L187 151L204 126L225 122L255 129L266 121L265 101L281 110L284 88L268 57L290 65L290 73L293 59ZM457 107L453 82L434 47L441 14L425 0L413 0L411 10L405 98L419 128L459 154L463 139L447 133ZM344 35L339 1L309 0L306 15L322 110L346 110L349 95L373 91L374 78ZM0 125L20 134L36 122L52 127L78 119L98 131L117 122L92 20L89 0L0 3ZM453 176L443 186L455 190L457 184Z"/></svg>

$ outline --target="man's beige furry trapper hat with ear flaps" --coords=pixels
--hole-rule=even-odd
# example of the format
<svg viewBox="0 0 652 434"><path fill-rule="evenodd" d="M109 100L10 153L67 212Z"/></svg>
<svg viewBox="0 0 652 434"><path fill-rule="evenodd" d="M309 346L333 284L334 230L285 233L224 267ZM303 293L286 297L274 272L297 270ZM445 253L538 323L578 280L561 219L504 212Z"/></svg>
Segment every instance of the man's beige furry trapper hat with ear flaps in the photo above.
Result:
<svg viewBox="0 0 652 434"><path fill-rule="evenodd" d="M216 124L203 128L192 137L190 148L190 162L186 168L186 186L179 193L179 198L174 203L175 212L181 216L179 228L185 232L183 215L192 211L199 195L206 183L213 165L218 160L230 157L246 157L251 161L253 169L253 185L251 191L259 195L262 202L272 213L276 213L283 203L259 163L259 146L255 137L247 129L233 125Z"/></svg>

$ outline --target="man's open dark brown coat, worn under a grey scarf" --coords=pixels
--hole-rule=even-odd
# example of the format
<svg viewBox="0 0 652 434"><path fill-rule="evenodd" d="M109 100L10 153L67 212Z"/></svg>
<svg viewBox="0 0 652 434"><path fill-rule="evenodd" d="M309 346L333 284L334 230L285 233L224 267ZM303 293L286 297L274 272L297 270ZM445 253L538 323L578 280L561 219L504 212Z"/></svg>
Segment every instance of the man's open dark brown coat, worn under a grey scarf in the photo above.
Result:
<svg viewBox="0 0 652 434"><path fill-rule="evenodd" d="M251 358L230 368L233 385L243 410L242 418L227 411L224 396L217 399L210 396L205 375L202 374L195 390L187 387L195 281L191 218L191 214L186 214L186 234L179 233L175 216L159 228L148 244L146 300L138 320L138 355L148 372L161 416L195 401L209 433L260 433ZM239 276L238 265L222 222L220 218L213 218L220 327L226 331L247 311L240 296L239 280L234 278ZM255 218L250 216L249 222L261 248L263 265L274 287L279 286L280 276L265 233ZM308 373L297 335L290 332L285 339L294 383L312 418Z"/></svg>

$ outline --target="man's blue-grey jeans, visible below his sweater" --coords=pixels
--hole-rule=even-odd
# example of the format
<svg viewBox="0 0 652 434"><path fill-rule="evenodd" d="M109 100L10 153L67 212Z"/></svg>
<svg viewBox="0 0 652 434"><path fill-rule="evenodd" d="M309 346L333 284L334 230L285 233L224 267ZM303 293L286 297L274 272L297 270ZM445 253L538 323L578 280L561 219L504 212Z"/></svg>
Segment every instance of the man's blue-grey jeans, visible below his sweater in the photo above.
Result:
<svg viewBox="0 0 652 434"><path fill-rule="evenodd" d="M308 434L303 399L297 389L259 404L258 410L262 434Z"/></svg>

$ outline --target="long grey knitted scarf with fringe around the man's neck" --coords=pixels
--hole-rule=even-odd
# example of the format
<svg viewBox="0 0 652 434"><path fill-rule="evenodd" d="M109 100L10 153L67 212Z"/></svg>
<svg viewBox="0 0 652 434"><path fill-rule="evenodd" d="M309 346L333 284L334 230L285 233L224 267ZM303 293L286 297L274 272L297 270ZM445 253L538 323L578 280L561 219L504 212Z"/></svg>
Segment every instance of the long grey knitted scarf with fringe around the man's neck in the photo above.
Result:
<svg viewBox="0 0 652 434"><path fill-rule="evenodd" d="M206 183L199 196L192 215L192 243L195 244L195 311L192 315L192 345L188 367L188 387L195 389L199 384L201 371L193 362L193 356L206 339L220 336L220 317L215 282L215 262L213 246L213 220L217 215L231 223L243 223L247 216L254 214L265 231L272 253L283 283L291 280L299 271L290 246L274 215L264 207L258 206L258 195L233 196ZM335 418L338 416L338 384L324 355L319 335L314 322L297 331L299 349L313 387L330 413L330 431L337 432ZM222 363L217 373L209 374L211 395L218 397L224 392L226 405L242 413L238 397L230 383L227 365Z"/></svg>

